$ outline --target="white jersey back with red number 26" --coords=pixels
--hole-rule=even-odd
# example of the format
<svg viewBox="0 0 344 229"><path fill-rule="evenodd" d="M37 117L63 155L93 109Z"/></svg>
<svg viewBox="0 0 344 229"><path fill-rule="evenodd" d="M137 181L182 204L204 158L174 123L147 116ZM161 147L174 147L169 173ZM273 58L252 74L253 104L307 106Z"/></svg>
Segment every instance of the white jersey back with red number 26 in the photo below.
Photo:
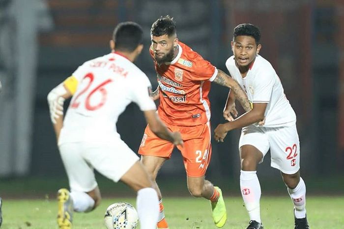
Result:
<svg viewBox="0 0 344 229"><path fill-rule="evenodd" d="M66 112L59 144L106 142L119 137L116 131L118 116L132 101L141 109L155 109L153 101L137 93L144 91L150 99L147 76L121 55L111 53L88 61L73 76L79 84Z"/></svg>

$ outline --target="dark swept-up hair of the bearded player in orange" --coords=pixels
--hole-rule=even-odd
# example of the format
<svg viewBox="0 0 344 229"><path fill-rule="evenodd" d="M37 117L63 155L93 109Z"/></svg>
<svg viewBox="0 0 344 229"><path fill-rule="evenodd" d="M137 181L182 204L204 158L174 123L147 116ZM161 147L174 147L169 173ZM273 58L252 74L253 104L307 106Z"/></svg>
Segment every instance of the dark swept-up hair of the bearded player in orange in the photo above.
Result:
<svg viewBox="0 0 344 229"><path fill-rule="evenodd" d="M161 16L153 23L150 29L150 34L153 36L162 36L165 34L171 36L176 34L176 32L175 21L170 15Z"/></svg>

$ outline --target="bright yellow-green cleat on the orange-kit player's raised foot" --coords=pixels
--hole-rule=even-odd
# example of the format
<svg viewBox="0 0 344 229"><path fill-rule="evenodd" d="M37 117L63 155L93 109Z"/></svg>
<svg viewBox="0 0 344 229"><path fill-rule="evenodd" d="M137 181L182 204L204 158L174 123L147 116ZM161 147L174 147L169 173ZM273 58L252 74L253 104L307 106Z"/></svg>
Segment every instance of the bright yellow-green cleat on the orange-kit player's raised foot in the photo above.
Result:
<svg viewBox="0 0 344 229"><path fill-rule="evenodd" d="M221 189L219 187L214 188L220 193L220 196L216 202L210 201L211 211L213 214L215 226L218 228L222 228L223 226L225 226L227 221L227 211Z"/></svg>

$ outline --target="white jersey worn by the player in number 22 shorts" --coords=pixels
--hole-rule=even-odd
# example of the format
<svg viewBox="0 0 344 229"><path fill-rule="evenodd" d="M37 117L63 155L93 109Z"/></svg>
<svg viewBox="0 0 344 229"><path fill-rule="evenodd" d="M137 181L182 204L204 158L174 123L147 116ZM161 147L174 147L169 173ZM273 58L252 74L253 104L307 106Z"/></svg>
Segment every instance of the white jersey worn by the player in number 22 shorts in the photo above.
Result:
<svg viewBox="0 0 344 229"><path fill-rule="evenodd" d="M245 90L250 102L268 103L264 127L283 127L295 123L296 115L284 94L281 80L267 60L257 55L244 78L235 65L234 56L229 57L226 66L230 75Z"/></svg>

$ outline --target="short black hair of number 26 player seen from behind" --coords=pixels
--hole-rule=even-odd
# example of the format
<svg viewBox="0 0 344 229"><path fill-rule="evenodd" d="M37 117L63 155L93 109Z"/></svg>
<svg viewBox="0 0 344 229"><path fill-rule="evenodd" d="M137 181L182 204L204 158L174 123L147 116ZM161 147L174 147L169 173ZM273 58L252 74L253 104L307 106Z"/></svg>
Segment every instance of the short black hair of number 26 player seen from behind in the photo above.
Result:
<svg viewBox="0 0 344 229"><path fill-rule="evenodd" d="M114 30L113 40L115 50L133 52L143 43L143 30L135 22L121 22Z"/></svg>

